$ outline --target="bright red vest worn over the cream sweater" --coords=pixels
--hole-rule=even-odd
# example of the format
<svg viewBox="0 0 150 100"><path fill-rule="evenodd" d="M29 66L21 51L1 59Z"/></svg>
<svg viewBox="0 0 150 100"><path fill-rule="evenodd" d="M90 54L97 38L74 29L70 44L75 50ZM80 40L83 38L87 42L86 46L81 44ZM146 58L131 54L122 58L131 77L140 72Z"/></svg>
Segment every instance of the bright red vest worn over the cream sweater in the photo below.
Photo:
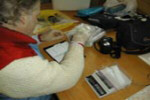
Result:
<svg viewBox="0 0 150 100"><path fill-rule="evenodd" d="M37 55L28 44L36 43L22 33L0 27L0 69L16 59Z"/></svg>

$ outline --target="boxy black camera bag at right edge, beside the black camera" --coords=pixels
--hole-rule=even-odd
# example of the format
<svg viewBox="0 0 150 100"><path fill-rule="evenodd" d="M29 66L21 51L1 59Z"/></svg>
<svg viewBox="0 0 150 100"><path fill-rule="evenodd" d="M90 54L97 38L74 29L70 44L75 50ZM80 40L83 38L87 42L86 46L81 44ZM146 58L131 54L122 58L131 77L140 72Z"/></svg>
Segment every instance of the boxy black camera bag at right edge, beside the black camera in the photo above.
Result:
<svg viewBox="0 0 150 100"><path fill-rule="evenodd" d="M121 21L117 27L117 44L128 54L150 52L150 19Z"/></svg>

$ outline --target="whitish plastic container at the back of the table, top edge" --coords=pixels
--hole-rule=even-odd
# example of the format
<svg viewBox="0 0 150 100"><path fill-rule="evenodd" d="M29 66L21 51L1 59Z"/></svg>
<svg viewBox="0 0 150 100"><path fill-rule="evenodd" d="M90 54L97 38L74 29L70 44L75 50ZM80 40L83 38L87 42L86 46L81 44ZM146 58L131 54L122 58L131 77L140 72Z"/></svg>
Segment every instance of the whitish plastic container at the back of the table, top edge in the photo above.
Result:
<svg viewBox="0 0 150 100"><path fill-rule="evenodd" d="M80 10L89 8L91 0L52 0L53 9Z"/></svg>

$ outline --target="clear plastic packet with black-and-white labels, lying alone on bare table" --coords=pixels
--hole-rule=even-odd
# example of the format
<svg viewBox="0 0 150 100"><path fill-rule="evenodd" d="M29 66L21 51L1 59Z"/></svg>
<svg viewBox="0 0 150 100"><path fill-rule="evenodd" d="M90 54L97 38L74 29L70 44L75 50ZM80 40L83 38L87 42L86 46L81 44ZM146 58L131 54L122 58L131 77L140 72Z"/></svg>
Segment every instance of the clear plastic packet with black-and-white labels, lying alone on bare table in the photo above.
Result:
<svg viewBox="0 0 150 100"><path fill-rule="evenodd" d="M132 83L132 79L117 64L96 70L85 80L99 98L126 88Z"/></svg>

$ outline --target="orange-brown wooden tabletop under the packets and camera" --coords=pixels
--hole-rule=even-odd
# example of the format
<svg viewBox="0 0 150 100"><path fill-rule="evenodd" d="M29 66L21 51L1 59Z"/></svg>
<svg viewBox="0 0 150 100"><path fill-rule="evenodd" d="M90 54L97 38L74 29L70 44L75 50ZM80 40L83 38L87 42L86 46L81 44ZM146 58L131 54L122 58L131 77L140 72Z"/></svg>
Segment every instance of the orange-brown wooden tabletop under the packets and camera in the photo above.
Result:
<svg viewBox="0 0 150 100"><path fill-rule="evenodd" d="M64 13L83 22L79 18L74 17L75 12ZM109 32L107 35L114 37L114 32ZM113 59L109 55L97 52L93 47L86 47L85 55L85 69L83 75L73 88L57 93L60 100L99 100L86 83L85 77L103 66L114 63L119 64L119 66L132 78L132 84L125 89L119 90L118 92L101 98L100 100L125 100L138 90L144 88L145 85L150 84L150 77L148 77L150 74L150 66L140 60L136 55L122 53L120 59Z"/></svg>

